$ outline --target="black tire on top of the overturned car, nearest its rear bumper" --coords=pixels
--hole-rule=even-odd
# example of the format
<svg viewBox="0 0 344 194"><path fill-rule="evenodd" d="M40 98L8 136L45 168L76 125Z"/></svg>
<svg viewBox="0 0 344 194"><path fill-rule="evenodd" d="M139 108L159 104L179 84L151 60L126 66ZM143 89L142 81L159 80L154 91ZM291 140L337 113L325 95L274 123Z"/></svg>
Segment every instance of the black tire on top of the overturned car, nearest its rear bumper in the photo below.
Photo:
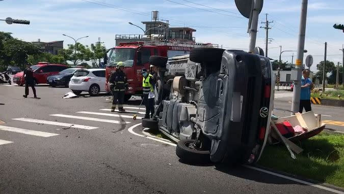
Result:
<svg viewBox="0 0 344 194"><path fill-rule="evenodd" d="M221 64L224 51L225 49L220 48L194 48L190 51L190 60L214 66L214 64Z"/></svg>

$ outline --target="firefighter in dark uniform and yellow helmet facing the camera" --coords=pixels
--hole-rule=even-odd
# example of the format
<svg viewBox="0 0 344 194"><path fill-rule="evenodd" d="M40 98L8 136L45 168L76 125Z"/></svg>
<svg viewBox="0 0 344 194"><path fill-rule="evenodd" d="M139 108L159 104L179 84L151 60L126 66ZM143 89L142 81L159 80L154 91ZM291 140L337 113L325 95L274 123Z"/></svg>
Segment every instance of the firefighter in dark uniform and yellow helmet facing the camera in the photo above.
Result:
<svg viewBox="0 0 344 194"><path fill-rule="evenodd" d="M110 84L113 85L112 94L114 95L112 100L111 112L115 112L116 104L118 100L118 110L124 112L124 92L127 87L127 78L123 71L124 63L122 61L117 63L117 70L111 73Z"/></svg>

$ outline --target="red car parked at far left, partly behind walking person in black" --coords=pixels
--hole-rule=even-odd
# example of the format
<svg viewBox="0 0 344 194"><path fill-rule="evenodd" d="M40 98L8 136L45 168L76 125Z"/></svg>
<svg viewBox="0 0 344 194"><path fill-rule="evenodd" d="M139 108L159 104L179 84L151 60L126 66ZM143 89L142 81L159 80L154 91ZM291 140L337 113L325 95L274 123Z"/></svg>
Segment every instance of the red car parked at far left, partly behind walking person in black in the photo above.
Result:
<svg viewBox="0 0 344 194"><path fill-rule="evenodd" d="M50 64L48 62L38 62L34 66L31 66L34 70L34 83L46 83L46 79L48 76L57 75L59 72L68 68L64 64ZM23 77L24 72L19 72L14 75L13 82L17 83L18 85L24 85L25 78Z"/></svg>

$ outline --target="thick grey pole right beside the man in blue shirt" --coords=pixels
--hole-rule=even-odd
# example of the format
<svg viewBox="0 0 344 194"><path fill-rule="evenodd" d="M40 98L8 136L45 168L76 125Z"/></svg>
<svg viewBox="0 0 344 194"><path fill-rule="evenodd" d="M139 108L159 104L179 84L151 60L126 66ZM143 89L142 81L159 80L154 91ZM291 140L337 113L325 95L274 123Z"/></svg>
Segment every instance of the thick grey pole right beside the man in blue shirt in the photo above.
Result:
<svg viewBox="0 0 344 194"><path fill-rule="evenodd" d="M296 63L295 63L295 68L297 70L297 79L294 82L292 114L299 112L299 108L300 108L301 76L302 76L303 53L305 49L307 4L308 4L308 0L302 0L300 31L299 31L299 41L298 41L298 55L297 55Z"/></svg>

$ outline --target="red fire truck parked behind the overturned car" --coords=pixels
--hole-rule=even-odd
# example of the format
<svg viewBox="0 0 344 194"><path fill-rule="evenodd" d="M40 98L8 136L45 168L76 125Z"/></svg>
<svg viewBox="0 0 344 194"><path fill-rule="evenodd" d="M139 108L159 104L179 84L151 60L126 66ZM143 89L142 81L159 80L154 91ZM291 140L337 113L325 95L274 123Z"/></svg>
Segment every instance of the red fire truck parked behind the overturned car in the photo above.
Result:
<svg viewBox="0 0 344 194"><path fill-rule="evenodd" d="M125 65L124 71L128 79L128 90L125 93L125 101L132 95L142 95L141 69L149 69L149 57L151 55L173 57L176 55L189 54L195 47L216 47L210 43L178 43L178 42L128 42L120 43L115 48L109 49L109 55L105 54L106 64L106 88L110 92L108 82L112 71L116 70L117 63L122 61Z"/></svg>

